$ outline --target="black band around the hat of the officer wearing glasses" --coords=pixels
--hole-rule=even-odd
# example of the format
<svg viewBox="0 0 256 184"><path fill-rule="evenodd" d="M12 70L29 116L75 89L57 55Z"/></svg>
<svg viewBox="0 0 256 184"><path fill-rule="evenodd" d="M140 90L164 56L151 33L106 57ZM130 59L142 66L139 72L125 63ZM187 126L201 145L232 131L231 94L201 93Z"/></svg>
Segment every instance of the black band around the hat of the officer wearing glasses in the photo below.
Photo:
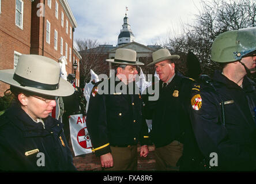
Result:
<svg viewBox="0 0 256 184"><path fill-rule="evenodd" d="M42 90L57 90L59 88L59 83L57 83L56 85L48 85L45 83L40 83L40 82L36 82L36 81L31 81L29 79L26 79L20 75L17 75L14 73L13 75L13 79L15 81L17 81L18 83L20 83L21 86L25 87L35 87L37 89L42 89Z"/></svg>

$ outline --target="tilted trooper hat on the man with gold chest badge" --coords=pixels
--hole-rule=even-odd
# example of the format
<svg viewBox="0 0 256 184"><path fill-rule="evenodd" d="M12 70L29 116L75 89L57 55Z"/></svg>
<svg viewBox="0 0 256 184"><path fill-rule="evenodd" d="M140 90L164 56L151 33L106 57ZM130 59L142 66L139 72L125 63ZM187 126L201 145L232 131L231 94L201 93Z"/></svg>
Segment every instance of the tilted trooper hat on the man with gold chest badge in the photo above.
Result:
<svg viewBox="0 0 256 184"><path fill-rule="evenodd" d="M177 60L179 55L171 55L171 53L166 48L161 48L152 53L153 62L149 63L147 66L152 66L156 63L163 62L164 60Z"/></svg>

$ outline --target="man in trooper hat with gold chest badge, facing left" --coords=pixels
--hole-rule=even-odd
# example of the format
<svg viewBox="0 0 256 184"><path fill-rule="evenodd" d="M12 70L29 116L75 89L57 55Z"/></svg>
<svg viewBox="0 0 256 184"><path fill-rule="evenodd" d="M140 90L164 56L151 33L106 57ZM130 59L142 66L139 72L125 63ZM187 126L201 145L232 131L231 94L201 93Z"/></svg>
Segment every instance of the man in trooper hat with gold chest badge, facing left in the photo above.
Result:
<svg viewBox="0 0 256 184"><path fill-rule="evenodd" d="M159 99L146 101L146 118L152 119L152 140L155 144L157 170L179 170L178 160L183 153L184 135L189 114L185 104L189 101L192 80L175 71L173 60L178 55L171 55L168 49L159 49L152 53L153 62L159 75ZM155 85L157 86L157 85Z"/></svg>

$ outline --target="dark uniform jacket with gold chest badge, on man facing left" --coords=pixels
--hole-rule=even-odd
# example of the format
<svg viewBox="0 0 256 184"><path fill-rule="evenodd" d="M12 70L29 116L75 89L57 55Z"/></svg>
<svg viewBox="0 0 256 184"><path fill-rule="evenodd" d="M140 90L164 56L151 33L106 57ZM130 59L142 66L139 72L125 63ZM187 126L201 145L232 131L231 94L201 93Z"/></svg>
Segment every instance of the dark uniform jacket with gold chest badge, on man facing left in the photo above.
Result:
<svg viewBox="0 0 256 184"><path fill-rule="evenodd" d="M166 87L162 87L162 81L159 82L157 101L145 101L146 118L152 119L150 136L156 147L163 147L174 140L183 143L186 124L189 124L189 115L184 106L189 101L191 82L177 71Z"/></svg>

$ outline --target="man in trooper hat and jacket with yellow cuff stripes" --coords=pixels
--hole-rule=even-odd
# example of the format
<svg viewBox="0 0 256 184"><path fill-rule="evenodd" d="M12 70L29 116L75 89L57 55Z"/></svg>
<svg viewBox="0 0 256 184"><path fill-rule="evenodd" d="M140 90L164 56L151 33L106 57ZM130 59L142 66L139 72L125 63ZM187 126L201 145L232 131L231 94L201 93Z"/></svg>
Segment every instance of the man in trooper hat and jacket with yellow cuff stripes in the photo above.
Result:
<svg viewBox="0 0 256 184"><path fill-rule="evenodd" d="M136 66L144 63L136 61L135 51L123 48L106 61L116 65L116 75L92 89L86 118L92 151L100 156L104 170L137 170L138 141L140 156L148 155L148 127L140 90L134 85Z"/></svg>

